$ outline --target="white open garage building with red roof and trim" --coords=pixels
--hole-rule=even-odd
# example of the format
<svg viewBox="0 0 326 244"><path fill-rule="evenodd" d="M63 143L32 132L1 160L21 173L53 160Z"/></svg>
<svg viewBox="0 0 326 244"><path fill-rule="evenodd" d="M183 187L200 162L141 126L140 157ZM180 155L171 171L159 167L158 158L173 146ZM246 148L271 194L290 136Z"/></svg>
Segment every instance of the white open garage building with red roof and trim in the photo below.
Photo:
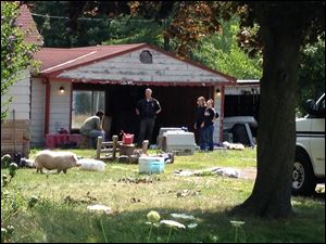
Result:
<svg viewBox="0 0 326 244"><path fill-rule="evenodd" d="M98 108L110 119L111 133L123 129L137 134L135 105L147 87L163 108L154 137L160 127L193 130L196 101L203 95L214 100L220 114L214 133L220 141L224 90L236 84L234 77L147 43L43 48L35 57L42 66L32 79L33 144L42 144L45 136L59 128L77 131Z"/></svg>

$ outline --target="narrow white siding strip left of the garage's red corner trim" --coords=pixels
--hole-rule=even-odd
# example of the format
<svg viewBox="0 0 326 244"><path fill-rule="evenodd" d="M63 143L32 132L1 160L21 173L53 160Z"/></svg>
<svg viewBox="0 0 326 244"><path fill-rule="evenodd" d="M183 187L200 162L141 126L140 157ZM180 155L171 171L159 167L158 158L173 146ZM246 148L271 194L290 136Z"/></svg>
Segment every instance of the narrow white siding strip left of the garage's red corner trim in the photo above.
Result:
<svg viewBox="0 0 326 244"><path fill-rule="evenodd" d="M45 143L45 104L46 85L40 78L32 79L32 118L30 118L30 145L42 146Z"/></svg>

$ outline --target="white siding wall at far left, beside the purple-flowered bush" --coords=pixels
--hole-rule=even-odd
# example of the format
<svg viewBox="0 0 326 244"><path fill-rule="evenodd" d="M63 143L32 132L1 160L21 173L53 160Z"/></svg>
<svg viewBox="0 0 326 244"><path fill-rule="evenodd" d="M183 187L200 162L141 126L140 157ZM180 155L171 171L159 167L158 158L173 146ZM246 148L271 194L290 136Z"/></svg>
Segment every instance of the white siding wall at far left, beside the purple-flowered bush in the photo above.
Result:
<svg viewBox="0 0 326 244"><path fill-rule="evenodd" d="M13 119L13 110L15 110L16 119L29 120L30 112L30 75L29 69L25 69L20 75L17 81L10 87L9 92L1 97L1 104L12 97L12 103L9 105L7 119Z"/></svg>

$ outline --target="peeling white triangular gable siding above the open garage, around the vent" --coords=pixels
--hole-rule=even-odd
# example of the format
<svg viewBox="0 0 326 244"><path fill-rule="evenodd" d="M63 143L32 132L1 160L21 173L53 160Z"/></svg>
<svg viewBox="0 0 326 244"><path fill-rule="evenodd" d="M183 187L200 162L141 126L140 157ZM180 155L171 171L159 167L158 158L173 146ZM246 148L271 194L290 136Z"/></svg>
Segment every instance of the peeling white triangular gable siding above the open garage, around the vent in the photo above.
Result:
<svg viewBox="0 0 326 244"><path fill-rule="evenodd" d="M152 64L139 61L139 54L149 50L153 56ZM59 77L84 80L123 80L123 81L171 81L171 82L226 82L226 78L210 70L199 68L164 53L140 49L98 63L80 66L62 73Z"/></svg>

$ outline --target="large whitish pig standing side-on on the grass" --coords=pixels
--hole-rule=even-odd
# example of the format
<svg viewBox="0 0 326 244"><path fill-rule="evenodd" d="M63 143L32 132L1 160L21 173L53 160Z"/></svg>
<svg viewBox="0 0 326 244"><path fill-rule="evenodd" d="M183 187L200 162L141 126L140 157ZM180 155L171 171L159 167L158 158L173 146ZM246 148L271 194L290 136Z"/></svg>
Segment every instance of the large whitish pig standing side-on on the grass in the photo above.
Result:
<svg viewBox="0 0 326 244"><path fill-rule="evenodd" d="M71 152L52 152L50 150L43 150L39 152L35 157L36 172L42 174L42 168L48 170L57 169L58 174L72 167L80 166L78 164L77 156Z"/></svg>

